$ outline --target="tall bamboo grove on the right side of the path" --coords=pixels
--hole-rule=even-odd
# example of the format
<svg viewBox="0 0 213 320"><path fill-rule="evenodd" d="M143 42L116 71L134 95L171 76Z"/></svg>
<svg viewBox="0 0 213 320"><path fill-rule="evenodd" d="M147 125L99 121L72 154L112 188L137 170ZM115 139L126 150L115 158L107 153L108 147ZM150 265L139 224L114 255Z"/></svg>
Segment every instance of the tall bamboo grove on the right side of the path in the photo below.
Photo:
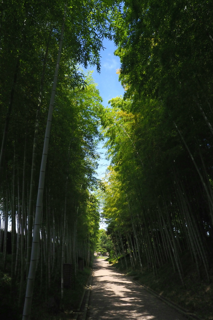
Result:
<svg viewBox="0 0 213 320"><path fill-rule="evenodd" d="M125 1L115 41L126 92L103 121L114 254L154 275L170 262L182 285L186 252L198 279L212 275L212 12L207 1Z"/></svg>

